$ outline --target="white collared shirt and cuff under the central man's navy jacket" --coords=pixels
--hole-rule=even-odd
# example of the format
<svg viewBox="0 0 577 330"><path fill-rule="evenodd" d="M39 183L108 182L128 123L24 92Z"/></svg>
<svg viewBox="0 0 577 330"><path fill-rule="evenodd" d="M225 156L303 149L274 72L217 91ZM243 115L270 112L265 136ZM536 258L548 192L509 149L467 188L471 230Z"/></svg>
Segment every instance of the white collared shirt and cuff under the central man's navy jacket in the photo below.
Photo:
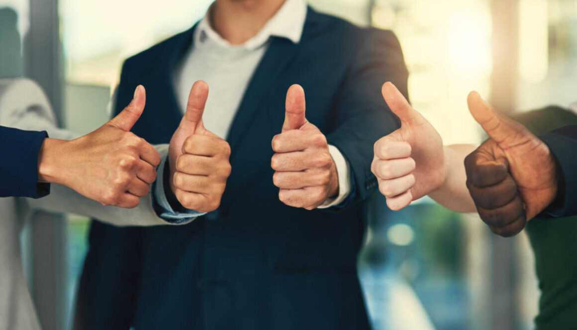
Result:
<svg viewBox="0 0 577 330"><path fill-rule="evenodd" d="M181 111L184 111L194 82L197 80L207 82L209 93L203 123L207 130L226 139L250 78L263 58L271 37L283 37L295 44L299 43L307 7L305 0L286 0L263 29L241 45L228 43L212 28L210 12L211 8L198 22L193 35L194 46L190 47L175 67L174 88ZM279 132L280 129L281 127ZM319 208L338 205L347 198L351 190L348 162L335 146L329 145L329 152L335 161L339 177L339 194L336 198L326 200ZM162 167L158 172L163 172ZM162 187L160 184L159 186ZM158 195L163 195L159 188L157 192ZM160 198L159 204L167 211L171 211L166 198Z"/></svg>

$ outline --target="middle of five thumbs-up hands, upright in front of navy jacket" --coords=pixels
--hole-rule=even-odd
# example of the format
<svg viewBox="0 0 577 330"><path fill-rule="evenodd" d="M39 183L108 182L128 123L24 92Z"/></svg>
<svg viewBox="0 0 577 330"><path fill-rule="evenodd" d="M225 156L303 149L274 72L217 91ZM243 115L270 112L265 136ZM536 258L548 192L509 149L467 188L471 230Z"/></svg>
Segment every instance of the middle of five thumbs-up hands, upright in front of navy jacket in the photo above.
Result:
<svg viewBox="0 0 577 330"><path fill-rule="evenodd" d="M284 204L313 210L339 194L327 138L306 120L305 91L299 85L288 89L282 132L272 139L272 150L272 181Z"/></svg>

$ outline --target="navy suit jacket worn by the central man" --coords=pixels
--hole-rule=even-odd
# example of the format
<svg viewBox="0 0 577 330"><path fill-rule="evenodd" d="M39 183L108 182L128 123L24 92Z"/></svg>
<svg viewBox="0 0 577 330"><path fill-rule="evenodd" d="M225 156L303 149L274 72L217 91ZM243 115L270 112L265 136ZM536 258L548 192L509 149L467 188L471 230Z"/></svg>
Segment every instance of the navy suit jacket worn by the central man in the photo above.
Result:
<svg viewBox="0 0 577 330"><path fill-rule="evenodd" d="M168 143L181 120L172 74L194 47L193 29L123 65L116 112L144 85L147 105L133 132L150 143ZM381 85L391 81L407 96L407 75L394 33L309 9L301 41L273 38L246 89L218 210L183 226L92 223L76 327L368 329L357 277L362 201L377 188L373 143L399 127ZM292 84L305 89L307 119L350 163L353 198L344 207L307 211L278 199L271 140Z"/></svg>

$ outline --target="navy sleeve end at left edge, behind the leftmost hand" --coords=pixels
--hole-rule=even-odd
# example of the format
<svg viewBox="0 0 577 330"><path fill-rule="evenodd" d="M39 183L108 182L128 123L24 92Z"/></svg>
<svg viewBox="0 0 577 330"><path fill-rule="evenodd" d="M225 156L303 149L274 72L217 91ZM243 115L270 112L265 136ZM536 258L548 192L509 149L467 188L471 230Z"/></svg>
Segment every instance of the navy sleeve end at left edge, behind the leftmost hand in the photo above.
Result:
<svg viewBox="0 0 577 330"><path fill-rule="evenodd" d="M46 131L23 131L0 126L0 197L40 198L50 184L38 183L38 151Z"/></svg>

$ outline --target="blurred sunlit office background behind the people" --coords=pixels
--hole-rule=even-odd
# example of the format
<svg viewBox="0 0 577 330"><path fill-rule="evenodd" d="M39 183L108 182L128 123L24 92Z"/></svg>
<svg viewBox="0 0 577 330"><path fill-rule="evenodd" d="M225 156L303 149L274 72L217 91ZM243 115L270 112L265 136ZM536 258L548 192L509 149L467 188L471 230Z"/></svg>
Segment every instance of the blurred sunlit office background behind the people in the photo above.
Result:
<svg viewBox="0 0 577 330"><path fill-rule="evenodd" d="M123 59L188 29L211 0L0 0L0 78L46 90L62 126L108 119ZM507 113L577 101L577 0L310 0L317 10L392 29L409 92L445 143L479 143L466 107L478 90ZM533 327L538 288L525 234L493 236L477 217L430 200L400 212L375 196L359 275L376 330ZM44 216L23 233L44 329L69 328L88 219Z"/></svg>

